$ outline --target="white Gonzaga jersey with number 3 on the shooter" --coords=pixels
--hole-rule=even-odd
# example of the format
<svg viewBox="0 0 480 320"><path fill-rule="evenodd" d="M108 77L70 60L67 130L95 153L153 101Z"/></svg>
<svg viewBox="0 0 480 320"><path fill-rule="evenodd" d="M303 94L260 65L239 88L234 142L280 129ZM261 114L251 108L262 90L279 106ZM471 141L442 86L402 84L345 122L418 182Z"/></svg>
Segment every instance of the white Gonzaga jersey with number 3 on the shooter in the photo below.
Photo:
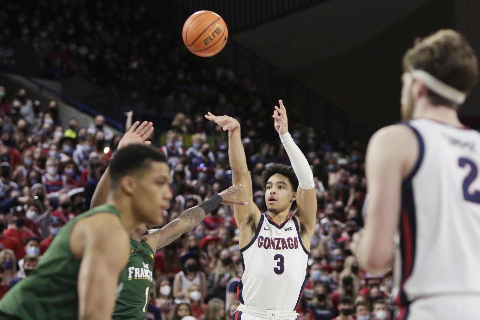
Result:
<svg viewBox="0 0 480 320"><path fill-rule="evenodd" d="M243 276L238 300L264 310L296 310L310 255L301 242L296 217L278 225L262 214L255 236L240 252Z"/></svg>

